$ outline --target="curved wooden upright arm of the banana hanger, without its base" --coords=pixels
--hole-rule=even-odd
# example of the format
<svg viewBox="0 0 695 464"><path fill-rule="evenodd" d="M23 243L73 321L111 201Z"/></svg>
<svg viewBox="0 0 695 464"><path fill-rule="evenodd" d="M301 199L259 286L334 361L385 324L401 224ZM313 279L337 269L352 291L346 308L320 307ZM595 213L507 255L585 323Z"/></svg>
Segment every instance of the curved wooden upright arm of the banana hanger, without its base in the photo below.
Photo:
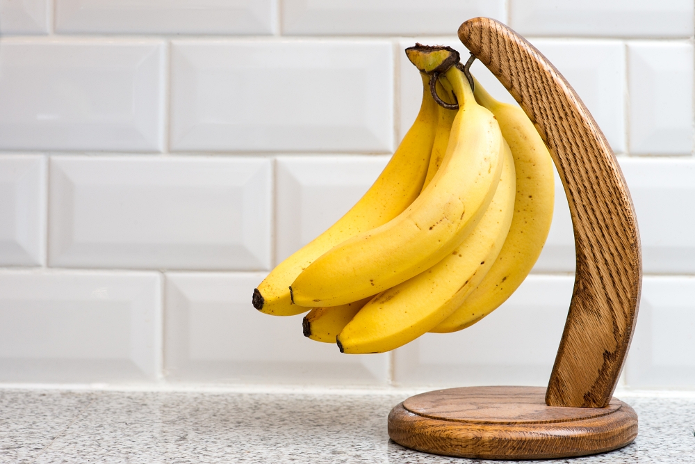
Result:
<svg viewBox="0 0 695 464"><path fill-rule="evenodd" d="M637 321L641 253L628 187L591 113L555 67L521 35L489 18L459 38L536 125L564 185L577 269L546 403L607 406Z"/></svg>

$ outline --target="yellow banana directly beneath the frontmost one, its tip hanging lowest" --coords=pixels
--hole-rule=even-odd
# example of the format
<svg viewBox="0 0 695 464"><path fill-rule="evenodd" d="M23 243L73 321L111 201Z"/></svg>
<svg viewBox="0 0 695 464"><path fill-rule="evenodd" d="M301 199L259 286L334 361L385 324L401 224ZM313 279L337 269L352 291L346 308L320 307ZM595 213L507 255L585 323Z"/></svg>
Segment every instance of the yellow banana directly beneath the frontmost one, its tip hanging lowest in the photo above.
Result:
<svg viewBox="0 0 695 464"><path fill-rule="evenodd" d="M452 314L477 287L505 243L514 214L516 177L507 143L490 206L473 232L431 269L382 291L338 335L343 353L383 353L398 348Z"/></svg>

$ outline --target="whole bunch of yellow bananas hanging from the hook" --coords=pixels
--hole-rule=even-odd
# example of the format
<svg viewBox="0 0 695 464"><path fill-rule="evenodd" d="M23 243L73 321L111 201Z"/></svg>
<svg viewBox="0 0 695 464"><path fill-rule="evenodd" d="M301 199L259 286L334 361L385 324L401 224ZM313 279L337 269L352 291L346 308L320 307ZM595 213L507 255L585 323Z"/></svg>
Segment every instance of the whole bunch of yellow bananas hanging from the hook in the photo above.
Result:
<svg viewBox="0 0 695 464"><path fill-rule="evenodd" d="M523 110L493 99L449 47L406 53L423 103L391 161L254 290L261 312L310 310L304 335L343 353L480 321L526 278L553 217L552 160Z"/></svg>

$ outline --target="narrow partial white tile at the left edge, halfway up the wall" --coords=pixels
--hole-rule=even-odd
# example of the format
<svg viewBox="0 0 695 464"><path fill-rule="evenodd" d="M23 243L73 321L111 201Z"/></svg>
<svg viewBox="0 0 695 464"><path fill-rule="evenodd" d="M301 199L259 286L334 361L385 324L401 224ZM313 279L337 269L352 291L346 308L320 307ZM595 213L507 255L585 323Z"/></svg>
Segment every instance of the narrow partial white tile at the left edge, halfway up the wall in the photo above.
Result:
<svg viewBox="0 0 695 464"><path fill-rule="evenodd" d="M0 156L0 266L40 266L46 254L46 162Z"/></svg>

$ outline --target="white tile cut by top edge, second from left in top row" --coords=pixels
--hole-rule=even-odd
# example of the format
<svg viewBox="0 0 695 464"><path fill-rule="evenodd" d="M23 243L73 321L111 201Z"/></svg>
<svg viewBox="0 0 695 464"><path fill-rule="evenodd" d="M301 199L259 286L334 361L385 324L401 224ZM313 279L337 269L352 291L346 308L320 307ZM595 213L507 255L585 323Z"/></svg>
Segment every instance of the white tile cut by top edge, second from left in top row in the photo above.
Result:
<svg viewBox="0 0 695 464"><path fill-rule="evenodd" d="M60 33L270 34L272 0L56 0Z"/></svg>

